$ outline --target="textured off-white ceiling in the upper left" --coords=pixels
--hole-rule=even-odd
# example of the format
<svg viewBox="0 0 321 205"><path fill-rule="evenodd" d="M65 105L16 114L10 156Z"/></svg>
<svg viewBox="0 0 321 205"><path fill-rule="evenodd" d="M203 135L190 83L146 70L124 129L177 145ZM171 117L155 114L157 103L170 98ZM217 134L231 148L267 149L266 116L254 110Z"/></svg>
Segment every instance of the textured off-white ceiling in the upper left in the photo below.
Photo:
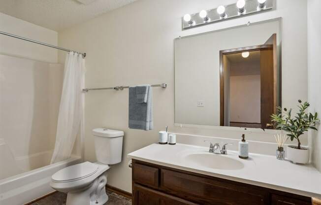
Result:
<svg viewBox="0 0 321 205"><path fill-rule="evenodd" d="M0 0L0 12L60 31L133 1L94 0L85 5L77 0Z"/></svg>

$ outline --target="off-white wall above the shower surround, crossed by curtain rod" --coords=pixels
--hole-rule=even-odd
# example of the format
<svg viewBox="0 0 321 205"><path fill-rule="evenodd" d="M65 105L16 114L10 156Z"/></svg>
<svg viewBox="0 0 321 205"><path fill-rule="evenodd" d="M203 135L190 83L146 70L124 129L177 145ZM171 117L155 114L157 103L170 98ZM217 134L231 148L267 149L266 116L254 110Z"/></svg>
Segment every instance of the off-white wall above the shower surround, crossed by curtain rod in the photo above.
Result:
<svg viewBox="0 0 321 205"><path fill-rule="evenodd" d="M58 44L58 33L0 13L0 31L32 40ZM57 49L0 34L0 54L57 63Z"/></svg>

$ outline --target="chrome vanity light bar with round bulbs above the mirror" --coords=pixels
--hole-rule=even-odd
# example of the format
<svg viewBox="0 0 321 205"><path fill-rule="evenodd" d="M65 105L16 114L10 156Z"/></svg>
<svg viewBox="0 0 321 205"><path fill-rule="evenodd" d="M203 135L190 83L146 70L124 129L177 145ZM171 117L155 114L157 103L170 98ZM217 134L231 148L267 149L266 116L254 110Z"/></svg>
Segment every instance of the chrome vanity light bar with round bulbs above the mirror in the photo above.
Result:
<svg viewBox="0 0 321 205"><path fill-rule="evenodd" d="M234 3L182 16L182 30L275 9L278 0L233 0ZM247 22L247 21L246 21Z"/></svg>

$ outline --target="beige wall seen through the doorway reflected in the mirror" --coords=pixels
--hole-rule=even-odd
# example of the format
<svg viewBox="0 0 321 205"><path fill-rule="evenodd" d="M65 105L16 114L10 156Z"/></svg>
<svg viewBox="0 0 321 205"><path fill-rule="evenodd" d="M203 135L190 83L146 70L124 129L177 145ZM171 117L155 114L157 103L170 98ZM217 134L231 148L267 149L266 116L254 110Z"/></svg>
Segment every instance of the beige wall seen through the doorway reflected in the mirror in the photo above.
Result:
<svg viewBox="0 0 321 205"><path fill-rule="evenodd" d="M230 76L230 122L261 123L261 75Z"/></svg>

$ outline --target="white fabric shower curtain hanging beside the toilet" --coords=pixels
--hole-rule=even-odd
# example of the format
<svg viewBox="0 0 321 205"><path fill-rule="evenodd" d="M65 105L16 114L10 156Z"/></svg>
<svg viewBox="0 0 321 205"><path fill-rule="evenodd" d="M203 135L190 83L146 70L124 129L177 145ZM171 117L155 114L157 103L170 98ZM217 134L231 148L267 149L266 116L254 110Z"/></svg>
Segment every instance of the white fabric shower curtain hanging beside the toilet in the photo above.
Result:
<svg viewBox="0 0 321 205"><path fill-rule="evenodd" d="M76 137L83 140L85 60L69 52L64 64L64 84L59 107L55 150L51 164L68 159Z"/></svg>

